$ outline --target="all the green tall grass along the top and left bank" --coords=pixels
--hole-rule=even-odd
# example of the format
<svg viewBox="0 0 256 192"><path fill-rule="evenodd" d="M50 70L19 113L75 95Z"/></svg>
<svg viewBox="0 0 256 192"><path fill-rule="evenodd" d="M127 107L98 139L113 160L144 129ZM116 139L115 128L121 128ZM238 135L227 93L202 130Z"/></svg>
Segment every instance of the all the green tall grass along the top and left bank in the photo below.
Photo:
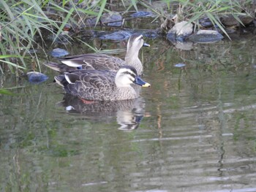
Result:
<svg viewBox="0 0 256 192"><path fill-rule="evenodd" d="M242 14L242 7L250 2L246 0L162 1L166 4L162 9L153 7L151 0L121 0L114 3L123 4L126 11L132 7L138 11L138 6L143 5L157 13L157 18L167 18L176 13L180 20L189 20L196 24L200 18L208 17L225 32L219 18L231 14L240 21L238 16ZM35 50L38 47L44 50L45 39L42 29L52 34L54 41L66 24L79 27L84 20L94 17L96 26L102 14L110 11L106 8L108 4L107 0L1 0L0 72L4 73L8 70L17 73L19 69L28 69L26 57L32 58L31 63L37 64L36 67L40 70L39 58ZM36 35L39 37L37 41L34 38Z"/></svg>

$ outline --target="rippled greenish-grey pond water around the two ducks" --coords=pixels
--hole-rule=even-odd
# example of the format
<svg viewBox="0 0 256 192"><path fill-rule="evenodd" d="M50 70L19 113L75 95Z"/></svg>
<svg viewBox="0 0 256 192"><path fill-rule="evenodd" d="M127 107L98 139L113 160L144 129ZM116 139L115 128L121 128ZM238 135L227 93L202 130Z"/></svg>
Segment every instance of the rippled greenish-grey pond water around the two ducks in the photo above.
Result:
<svg viewBox="0 0 256 192"><path fill-rule="evenodd" d="M256 38L236 39L192 50L146 39L151 88L115 107L63 101L45 66L39 85L1 75L17 93L0 96L1 191L256 191Z"/></svg>

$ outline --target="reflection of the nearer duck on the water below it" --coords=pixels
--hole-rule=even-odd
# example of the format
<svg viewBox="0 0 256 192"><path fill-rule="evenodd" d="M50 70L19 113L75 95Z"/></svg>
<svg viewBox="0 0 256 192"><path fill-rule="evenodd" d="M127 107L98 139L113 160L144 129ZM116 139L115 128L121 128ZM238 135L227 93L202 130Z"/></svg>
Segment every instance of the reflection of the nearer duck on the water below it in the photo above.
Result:
<svg viewBox="0 0 256 192"><path fill-rule="evenodd" d="M116 118L119 130L128 131L140 126L143 119L145 101L143 98L122 101L85 101L66 94L59 102L70 113L80 113L86 118Z"/></svg>

